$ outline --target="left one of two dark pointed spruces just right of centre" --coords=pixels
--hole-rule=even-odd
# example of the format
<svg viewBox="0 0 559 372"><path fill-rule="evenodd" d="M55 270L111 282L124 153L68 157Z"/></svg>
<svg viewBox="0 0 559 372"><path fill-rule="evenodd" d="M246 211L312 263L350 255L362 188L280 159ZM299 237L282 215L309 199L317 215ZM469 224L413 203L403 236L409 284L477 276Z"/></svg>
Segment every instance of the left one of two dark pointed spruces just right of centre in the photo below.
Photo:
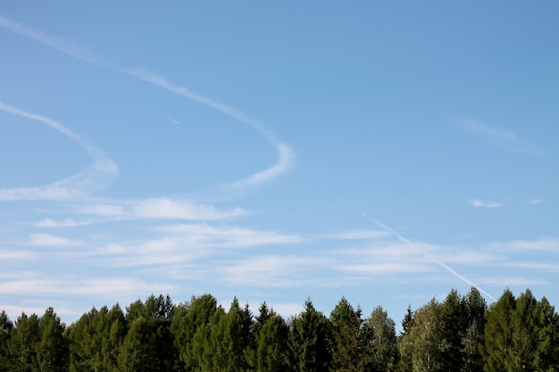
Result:
<svg viewBox="0 0 559 372"><path fill-rule="evenodd" d="M326 372L332 359L332 330L328 318L305 302L305 310L291 319L289 348L290 368L299 372Z"/></svg>

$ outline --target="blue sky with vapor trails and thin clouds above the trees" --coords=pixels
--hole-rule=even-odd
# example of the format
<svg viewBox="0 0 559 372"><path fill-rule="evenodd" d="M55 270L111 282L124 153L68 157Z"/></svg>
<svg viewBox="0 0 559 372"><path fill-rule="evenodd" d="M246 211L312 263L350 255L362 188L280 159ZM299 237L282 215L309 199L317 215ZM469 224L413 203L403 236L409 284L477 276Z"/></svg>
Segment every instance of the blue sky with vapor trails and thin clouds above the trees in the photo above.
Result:
<svg viewBox="0 0 559 372"><path fill-rule="evenodd" d="M0 308L559 302L559 4L0 6Z"/></svg>

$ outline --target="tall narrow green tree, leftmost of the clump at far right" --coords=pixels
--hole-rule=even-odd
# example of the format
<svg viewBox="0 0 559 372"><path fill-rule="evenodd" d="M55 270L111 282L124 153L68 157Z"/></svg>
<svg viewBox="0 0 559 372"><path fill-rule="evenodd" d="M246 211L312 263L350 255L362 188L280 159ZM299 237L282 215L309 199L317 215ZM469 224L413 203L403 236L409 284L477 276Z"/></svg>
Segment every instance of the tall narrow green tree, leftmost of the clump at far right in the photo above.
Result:
<svg viewBox="0 0 559 372"><path fill-rule="evenodd" d="M513 312L516 307L513 293L506 289L488 309L484 330L485 347L482 354L486 372L513 372Z"/></svg>

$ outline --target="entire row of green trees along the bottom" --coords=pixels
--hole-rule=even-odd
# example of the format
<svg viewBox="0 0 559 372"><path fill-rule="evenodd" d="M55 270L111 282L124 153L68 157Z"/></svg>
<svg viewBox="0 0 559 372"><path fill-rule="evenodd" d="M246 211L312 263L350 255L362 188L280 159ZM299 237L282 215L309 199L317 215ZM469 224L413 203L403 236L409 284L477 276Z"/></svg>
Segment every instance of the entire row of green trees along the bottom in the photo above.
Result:
<svg viewBox="0 0 559 372"><path fill-rule="evenodd" d="M330 317L305 302L282 318L264 302L257 315L210 294L177 305L150 296L126 308L95 308L66 327L0 313L0 371L557 371L559 315L530 290L505 290L487 306L477 289L451 291L417 310L402 332L381 307L367 318L342 298Z"/></svg>

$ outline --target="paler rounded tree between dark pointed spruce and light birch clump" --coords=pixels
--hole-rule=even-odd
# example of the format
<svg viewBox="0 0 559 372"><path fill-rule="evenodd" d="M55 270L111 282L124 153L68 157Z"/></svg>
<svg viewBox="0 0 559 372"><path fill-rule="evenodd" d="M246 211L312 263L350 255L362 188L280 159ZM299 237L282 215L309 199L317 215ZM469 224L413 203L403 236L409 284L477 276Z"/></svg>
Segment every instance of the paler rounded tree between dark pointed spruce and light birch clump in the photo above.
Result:
<svg viewBox="0 0 559 372"><path fill-rule="evenodd" d="M368 347L366 360L370 360L367 370L374 372L393 371L396 368L396 324L388 317L388 312L378 306L365 320ZM360 369L363 370L363 369Z"/></svg>

